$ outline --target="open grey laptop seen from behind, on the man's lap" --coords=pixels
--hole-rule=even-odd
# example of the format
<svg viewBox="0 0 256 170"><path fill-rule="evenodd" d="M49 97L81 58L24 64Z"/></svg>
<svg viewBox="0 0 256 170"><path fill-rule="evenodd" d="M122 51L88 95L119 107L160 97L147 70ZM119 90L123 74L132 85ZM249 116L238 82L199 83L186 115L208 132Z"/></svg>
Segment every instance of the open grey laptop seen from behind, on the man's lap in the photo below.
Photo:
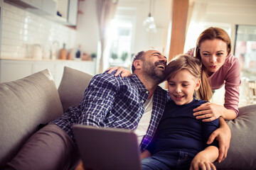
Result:
<svg viewBox="0 0 256 170"><path fill-rule="evenodd" d="M73 131L85 169L141 169L137 135L132 130L73 125Z"/></svg>

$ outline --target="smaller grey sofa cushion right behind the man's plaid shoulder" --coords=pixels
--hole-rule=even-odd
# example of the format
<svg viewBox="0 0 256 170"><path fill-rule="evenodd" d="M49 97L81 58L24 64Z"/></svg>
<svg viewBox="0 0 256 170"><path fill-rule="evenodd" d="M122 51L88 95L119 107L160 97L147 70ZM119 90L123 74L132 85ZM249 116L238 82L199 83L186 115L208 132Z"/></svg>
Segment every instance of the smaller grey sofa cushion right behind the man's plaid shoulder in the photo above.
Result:
<svg viewBox="0 0 256 170"><path fill-rule="evenodd" d="M92 79L92 75L80 72L77 69L64 67L63 78L58 87L60 101L63 111L67 111L70 106L78 106L82 101L82 96Z"/></svg>

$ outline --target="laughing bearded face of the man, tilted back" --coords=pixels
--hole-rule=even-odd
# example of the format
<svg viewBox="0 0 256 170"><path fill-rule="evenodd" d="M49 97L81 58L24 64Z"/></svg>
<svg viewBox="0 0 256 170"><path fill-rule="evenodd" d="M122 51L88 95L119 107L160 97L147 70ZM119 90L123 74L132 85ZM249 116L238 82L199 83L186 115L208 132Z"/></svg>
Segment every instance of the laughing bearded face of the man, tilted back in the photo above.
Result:
<svg viewBox="0 0 256 170"><path fill-rule="evenodd" d="M161 52L156 50L149 50L145 52L143 69L146 75L155 79L156 81L164 81L166 57Z"/></svg>

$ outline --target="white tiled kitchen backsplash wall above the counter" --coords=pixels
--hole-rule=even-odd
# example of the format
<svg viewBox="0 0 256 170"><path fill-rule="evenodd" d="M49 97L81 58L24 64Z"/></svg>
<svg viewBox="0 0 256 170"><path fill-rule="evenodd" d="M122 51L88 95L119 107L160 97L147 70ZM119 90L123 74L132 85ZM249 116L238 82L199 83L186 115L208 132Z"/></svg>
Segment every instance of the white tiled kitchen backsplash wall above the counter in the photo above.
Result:
<svg viewBox="0 0 256 170"><path fill-rule="evenodd" d="M50 57L53 45L58 50L63 47L63 42L68 49L75 47L74 29L3 1L1 7L1 57L31 57L33 44L43 47L45 57Z"/></svg>

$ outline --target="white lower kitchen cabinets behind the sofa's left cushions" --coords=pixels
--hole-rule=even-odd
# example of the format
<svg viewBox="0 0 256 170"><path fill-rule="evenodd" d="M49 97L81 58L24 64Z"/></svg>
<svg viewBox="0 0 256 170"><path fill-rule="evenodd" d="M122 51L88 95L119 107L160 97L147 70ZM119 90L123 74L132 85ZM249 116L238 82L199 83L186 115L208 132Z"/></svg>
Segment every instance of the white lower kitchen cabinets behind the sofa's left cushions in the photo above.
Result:
<svg viewBox="0 0 256 170"><path fill-rule="evenodd" d="M0 60L0 83L22 79L43 69L49 69L58 88L64 67L95 75L95 62L75 60Z"/></svg>

